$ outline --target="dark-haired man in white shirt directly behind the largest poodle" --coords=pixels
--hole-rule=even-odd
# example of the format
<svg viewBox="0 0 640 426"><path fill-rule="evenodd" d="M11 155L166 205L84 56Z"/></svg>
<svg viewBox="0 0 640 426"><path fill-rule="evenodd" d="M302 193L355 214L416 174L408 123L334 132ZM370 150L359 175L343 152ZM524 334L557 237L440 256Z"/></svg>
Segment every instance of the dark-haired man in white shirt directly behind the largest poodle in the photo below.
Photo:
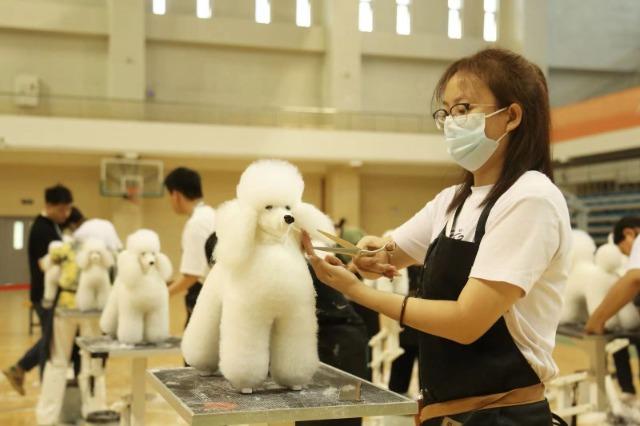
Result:
<svg viewBox="0 0 640 426"><path fill-rule="evenodd" d="M169 286L170 296L187 291L188 323L209 269L205 243L215 230L215 211L202 200L202 183L195 170L178 167L167 175L164 185L173 211L190 216L182 231L180 276Z"/></svg>

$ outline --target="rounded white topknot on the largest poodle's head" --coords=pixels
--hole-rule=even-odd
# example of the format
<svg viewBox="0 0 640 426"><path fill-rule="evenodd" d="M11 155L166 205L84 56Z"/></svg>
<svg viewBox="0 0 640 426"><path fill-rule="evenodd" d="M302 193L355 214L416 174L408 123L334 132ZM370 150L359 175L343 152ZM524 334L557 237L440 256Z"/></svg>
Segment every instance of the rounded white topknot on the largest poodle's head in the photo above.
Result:
<svg viewBox="0 0 640 426"><path fill-rule="evenodd" d="M258 160L242 173L236 188L238 199L261 209L266 205L300 202L304 181L298 168L283 160Z"/></svg>

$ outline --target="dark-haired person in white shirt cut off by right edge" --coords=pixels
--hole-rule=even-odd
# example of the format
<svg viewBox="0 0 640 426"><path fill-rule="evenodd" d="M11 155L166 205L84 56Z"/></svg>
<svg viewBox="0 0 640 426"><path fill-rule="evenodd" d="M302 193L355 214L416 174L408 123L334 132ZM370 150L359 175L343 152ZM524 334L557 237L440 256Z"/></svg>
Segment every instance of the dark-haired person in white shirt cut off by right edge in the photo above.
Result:
<svg viewBox="0 0 640 426"><path fill-rule="evenodd" d="M588 333L601 334L605 322L640 293L640 217L623 217L613 228L613 242L629 256L627 272L609 290L585 326Z"/></svg>

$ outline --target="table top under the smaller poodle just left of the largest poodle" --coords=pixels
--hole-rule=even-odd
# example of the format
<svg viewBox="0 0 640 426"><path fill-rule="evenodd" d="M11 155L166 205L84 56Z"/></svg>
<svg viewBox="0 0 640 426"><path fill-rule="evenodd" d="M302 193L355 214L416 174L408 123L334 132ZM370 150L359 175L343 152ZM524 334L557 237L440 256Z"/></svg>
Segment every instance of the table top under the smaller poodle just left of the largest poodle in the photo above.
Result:
<svg viewBox="0 0 640 426"><path fill-rule="evenodd" d="M169 337L160 343L122 343L110 336L77 337L76 343L92 355L109 354L112 357L141 358L152 355L171 355L180 353L180 338Z"/></svg>

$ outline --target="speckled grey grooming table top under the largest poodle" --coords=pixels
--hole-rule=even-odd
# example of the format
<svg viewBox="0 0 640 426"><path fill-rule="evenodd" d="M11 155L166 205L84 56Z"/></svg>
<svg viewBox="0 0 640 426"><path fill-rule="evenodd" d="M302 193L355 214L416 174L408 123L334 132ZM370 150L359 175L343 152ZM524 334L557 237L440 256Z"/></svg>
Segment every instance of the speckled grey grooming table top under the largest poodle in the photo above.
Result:
<svg viewBox="0 0 640 426"><path fill-rule="evenodd" d="M418 411L415 401L326 364L301 391L282 388L269 379L249 395L234 390L221 375L202 376L193 368L149 370L147 374L152 386L193 426L293 425L296 420L413 415ZM341 389L358 383L360 400L339 399Z"/></svg>

